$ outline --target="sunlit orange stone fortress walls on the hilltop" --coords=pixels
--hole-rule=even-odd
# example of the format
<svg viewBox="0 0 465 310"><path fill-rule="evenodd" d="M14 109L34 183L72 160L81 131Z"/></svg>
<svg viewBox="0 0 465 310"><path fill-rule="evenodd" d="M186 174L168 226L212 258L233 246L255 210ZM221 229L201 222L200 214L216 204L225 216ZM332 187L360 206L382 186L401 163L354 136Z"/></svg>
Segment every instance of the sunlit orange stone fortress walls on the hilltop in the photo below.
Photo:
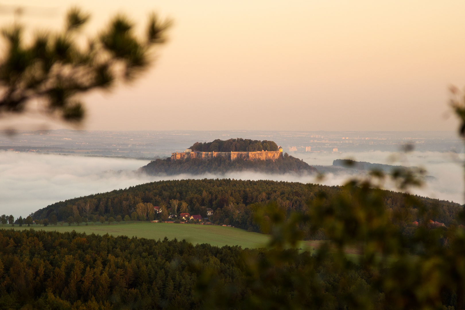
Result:
<svg viewBox="0 0 465 310"><path fill-rule="evenodd" d="M224 157L228 160L243 159L243 160L272 160L283 157L283 148L279 146L278 151L259 151L259 152L193 152L191 149L186 149L185 152L171 153L171 159L188 159L201 158L212 159L215 157Z"/></svg>

